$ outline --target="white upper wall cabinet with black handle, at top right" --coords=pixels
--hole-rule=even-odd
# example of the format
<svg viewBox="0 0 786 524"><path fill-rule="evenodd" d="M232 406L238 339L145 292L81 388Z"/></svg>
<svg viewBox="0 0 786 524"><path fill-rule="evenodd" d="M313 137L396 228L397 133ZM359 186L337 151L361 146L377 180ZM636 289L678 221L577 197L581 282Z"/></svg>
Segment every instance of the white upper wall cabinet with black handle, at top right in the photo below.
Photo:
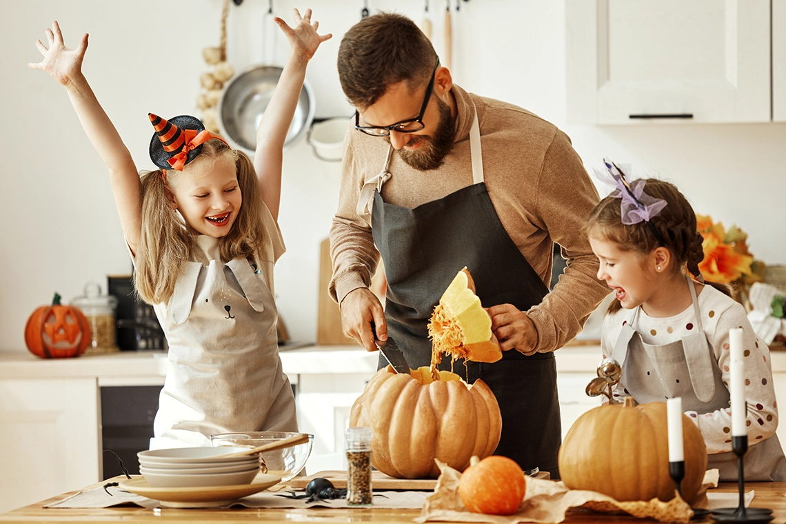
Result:
<svg viewBox="0 0 786 524"><path fill-rule="evenodd" d="M771 120L770 0L567 0L566 16L572 123Z"/></svg>

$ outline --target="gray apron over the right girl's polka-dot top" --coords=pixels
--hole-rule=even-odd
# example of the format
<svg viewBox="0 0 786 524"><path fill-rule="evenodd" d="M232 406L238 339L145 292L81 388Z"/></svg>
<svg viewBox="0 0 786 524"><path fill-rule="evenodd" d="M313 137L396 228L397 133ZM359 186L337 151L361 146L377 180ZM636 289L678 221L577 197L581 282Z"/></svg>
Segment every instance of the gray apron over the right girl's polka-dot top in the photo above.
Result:
<svg viewBox="0 0 786 524"><path fill-rule="evenodd" d="M690 279L688 287L696 314L696 329L691 335L670 344L644 343L635 329L641 309L637 307L633 319L623 325L611 356L623 368L620 383L639 404L681 397L683 410L701 416L728 408L729 390L707 343L696 289ZM737 479L737 457L732 452L709 455L707 469L714 467L720 471L722 481ZM777 435L748 447L745 480L786 480L786 459Z"/></svg>

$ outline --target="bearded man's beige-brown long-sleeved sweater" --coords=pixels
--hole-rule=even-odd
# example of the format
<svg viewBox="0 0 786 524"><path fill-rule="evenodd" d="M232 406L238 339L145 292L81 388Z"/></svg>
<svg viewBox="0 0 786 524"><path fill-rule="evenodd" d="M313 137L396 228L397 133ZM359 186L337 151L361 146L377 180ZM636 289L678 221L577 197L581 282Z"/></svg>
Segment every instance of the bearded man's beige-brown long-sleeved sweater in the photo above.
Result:
<svg viewBox="0 0 786 524"><path fill-rule="evenodd" d="M570 139L556 126L515 105L471 95L455 85L452 93L457 104L456 137L443 165L420 171L394 154L392 177L383 185L382 197L387 203L413 208L472 185L469 129L474 102L484 180L502 225L546 286L551 280L553 242L560 244L567 258L559 283L527 312L538 329L536 350L556 350L578 334L609 291L595 277L597 258L582 234L582 225L598 201L597 190ZM350 291L368 287L376 269L379 252L371 228L355 210L363 182L383 169L388 148L384 138L354 129L344 141L339 208L330 230L330 293L339 303Z"/></svg>

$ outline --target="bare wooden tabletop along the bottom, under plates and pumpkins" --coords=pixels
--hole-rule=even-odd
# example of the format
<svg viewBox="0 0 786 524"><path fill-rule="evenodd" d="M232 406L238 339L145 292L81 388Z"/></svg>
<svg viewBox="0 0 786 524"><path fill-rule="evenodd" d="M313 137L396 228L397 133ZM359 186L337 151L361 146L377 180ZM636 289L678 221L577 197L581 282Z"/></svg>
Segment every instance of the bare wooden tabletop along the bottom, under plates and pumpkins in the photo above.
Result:
<svg viewBox="0 0 786 524"><path fill-rule="evenodd" d="M97 482L85 489L101 487L108 481ZM774 511L776 524L786 522L786 482L748 482L746 491L755 489L756 496L751 506L770 508ZM736 483L722 483L713 491L736 492ZM31 504L0 515L0 522L412 522L420 510L395 510L382 508L357 509L177 509L139 508L126 506L102 509L43 508L76 492L63 493L38 504ZM589 524L589 522L655 522L635 519L624 515L603 515L585 511L571 511L566 524ZM699 522L699 521L692 521ZM714 522L707 517L703 522Z"/></svg>

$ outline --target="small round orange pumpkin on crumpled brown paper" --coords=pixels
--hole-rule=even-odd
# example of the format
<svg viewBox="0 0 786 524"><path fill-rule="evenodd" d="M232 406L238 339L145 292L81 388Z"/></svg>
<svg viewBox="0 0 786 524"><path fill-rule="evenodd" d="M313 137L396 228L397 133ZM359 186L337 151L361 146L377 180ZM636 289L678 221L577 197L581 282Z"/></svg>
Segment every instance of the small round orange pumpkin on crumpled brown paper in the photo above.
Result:
<svg viewBox="0 0 786 524"><path fill-rule="evenodd" d="M499 455L483 460L473 456L458 483L458 496L467 509L487 515L513 515L519 510L526 491L519 464Z"/></svg>

